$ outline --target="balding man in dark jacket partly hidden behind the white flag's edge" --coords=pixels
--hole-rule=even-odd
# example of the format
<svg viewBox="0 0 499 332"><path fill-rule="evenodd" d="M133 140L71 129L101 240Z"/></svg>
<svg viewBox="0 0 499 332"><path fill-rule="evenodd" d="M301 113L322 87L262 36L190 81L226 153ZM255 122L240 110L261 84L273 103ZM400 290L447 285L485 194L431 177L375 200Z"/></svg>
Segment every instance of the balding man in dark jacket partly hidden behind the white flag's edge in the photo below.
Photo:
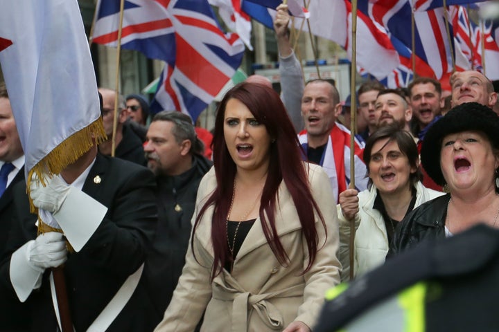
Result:
<svg viewBox="0 0 499 332"><path fill-rule="evenodd" d="M104 130L107 135L107 140L100 143L98 151L105 156L111 156L114 124L114 100L116 100L116 91L107 88L99 88L98 91L103 96L103 108L101 109L101 113L103 117ZM126 123L127 117L125 98L123 98L123 95L118 95L118 121L116 125L116 146L114 156L116 156L116 158L146 166L142 140L133 131L130 124Z"/></svg>

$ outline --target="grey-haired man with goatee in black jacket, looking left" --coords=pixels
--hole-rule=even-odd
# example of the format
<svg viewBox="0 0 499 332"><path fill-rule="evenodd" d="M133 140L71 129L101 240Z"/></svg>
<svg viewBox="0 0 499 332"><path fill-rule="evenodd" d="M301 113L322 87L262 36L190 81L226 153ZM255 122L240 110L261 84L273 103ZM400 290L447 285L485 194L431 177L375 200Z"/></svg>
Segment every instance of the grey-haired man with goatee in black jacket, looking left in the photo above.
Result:
<svg viewBox="0 0 499 332"><path fill-rule="evenodd" d="M144 150L157 179L158 225L142 282L162 317L185 264L198 186L212 164L191 118L177 111L156 114Z"/></svg>

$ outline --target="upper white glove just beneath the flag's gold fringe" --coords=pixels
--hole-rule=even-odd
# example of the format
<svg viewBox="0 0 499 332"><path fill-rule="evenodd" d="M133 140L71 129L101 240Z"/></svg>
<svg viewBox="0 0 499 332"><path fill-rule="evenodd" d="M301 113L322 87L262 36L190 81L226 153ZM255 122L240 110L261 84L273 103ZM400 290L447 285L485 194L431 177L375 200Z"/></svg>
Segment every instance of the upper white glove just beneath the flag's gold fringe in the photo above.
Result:
<svg viewBox="0 0 499 332"><path fill-rule="evenodd" d="M69 194L71 187L64 183L58 176L46 179L44 187L36 174L30 181L30 196L35 207L47 212L58 212L62 203Z"/></svg>

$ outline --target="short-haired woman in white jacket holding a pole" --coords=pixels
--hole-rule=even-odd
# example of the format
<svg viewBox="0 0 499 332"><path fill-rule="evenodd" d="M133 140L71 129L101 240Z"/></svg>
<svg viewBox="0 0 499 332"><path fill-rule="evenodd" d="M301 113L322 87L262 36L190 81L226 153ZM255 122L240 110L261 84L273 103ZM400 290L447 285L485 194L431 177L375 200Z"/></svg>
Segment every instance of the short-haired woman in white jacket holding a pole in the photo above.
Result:
<svg viewBox="0 0 499 332"><path fill-rule="evenodd" d="M350 274L350 224L355 223L353 275L362 275L385 261L396 225L422 203L444 194L421 184L419 155L408 131L386 126L367 139L364 150L369 187L340 194L342 280Z"/></svg>

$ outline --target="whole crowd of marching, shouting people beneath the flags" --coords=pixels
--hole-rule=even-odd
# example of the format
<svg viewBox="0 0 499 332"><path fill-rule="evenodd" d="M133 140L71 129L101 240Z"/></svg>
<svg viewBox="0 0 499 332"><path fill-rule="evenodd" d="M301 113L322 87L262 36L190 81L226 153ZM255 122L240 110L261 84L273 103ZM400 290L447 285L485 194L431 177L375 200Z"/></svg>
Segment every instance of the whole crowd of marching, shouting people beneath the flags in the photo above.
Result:
<svg viewBox="0 0 499 332"><path fill-rule="evenodd" d="M430 77L365 82L342 103L331 82L304 84L287 9L274 19L281 95L258 75L234 86L207 144L184 113L152 116L142 95L101 87L107 140L26 183L0 84L0 331L62 329L62 269L75 331L310 332L340 282L499 228L491 81L454 73L450 109Z"/></svg>

